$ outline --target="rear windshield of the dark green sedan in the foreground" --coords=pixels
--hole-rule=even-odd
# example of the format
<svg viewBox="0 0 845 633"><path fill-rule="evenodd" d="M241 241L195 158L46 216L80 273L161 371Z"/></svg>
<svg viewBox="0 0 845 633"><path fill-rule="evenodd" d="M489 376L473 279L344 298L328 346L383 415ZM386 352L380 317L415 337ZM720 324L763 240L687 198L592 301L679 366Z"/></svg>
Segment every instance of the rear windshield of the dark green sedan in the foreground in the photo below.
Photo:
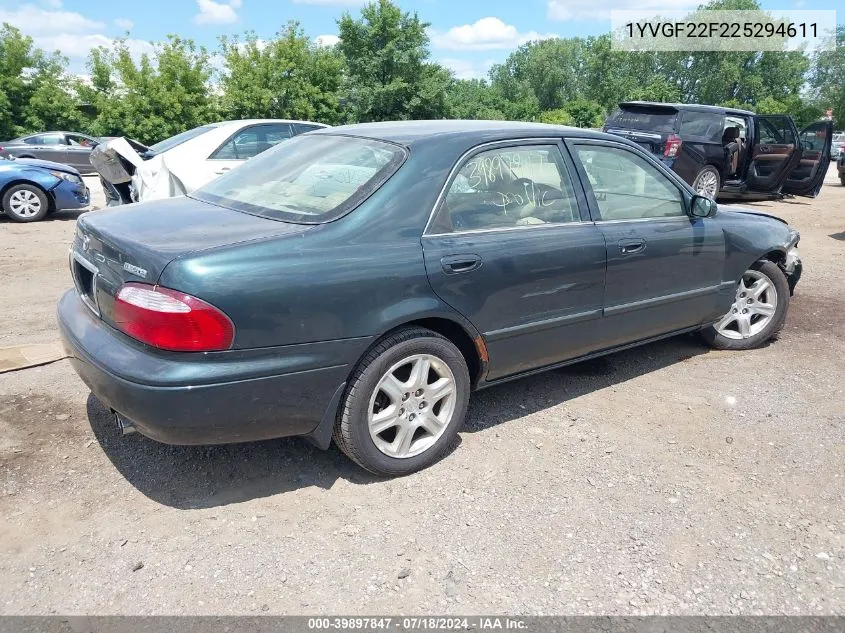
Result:
<svg viewBox="0 0 845 633"><path fill-rule="evenodd" d="M360 204L404 160L404 149L381 141L322 134L296 136L191 196L254 215L319 224Z"/></svg>

